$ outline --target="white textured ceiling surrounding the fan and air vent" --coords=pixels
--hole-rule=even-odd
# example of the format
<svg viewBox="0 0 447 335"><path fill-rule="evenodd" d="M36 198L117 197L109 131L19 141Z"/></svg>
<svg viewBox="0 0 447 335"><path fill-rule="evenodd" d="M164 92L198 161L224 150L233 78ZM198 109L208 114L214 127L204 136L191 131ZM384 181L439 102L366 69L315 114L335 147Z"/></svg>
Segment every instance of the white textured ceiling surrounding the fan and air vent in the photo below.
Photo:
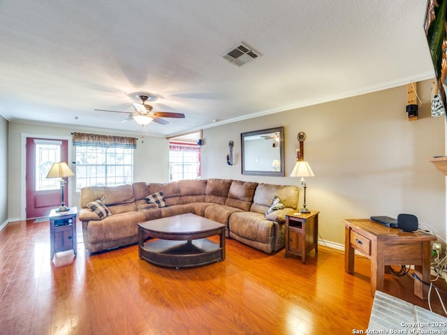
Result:
<svg viewBox="0 0 447 335"><path fill-rule="evenodd" d="M0 114L172 135L434 77L423 0L0 1ZM241 42L261 54L238 68ZM135 94L185 119L121 122Z"/></svg>

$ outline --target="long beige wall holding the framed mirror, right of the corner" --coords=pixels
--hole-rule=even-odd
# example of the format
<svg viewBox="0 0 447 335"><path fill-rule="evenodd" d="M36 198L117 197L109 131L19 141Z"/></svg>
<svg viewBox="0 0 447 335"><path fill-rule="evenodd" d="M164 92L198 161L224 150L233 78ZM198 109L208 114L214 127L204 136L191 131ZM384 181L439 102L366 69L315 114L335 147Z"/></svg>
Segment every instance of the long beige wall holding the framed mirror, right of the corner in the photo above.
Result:
<svg viewBox="0 0 447 335"><path fill-rule="evenodd" d="M344 243L343 218L371 215L418 216L420 223L446 231L445 177L430 163L444 155L444 117L430 117L431 82L418 83L420 118L408 121L406 86L303 107L203 130L203 178L235 178L296 184L298 178L241 174L240 133L284 126L286 176L295 164L296 135L304 131L307 207L321 211L323 239ZM233 140L233 166L226 164ZM300 204L302 203L302 193Z"/></svg>

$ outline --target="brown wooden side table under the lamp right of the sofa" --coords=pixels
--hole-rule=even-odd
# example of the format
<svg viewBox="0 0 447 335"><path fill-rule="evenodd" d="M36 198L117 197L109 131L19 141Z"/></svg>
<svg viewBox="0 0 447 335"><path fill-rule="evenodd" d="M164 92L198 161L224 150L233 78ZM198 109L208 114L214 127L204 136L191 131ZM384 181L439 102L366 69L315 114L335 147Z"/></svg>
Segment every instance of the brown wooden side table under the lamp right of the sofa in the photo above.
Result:
<svg viewBox="0 0 447 335"><path fill-rule="evenodd" d="M312 249L318 253L318 213L295 213L286 215L286 257L289 253L301 256L306 264L306 255Z"/></svg>

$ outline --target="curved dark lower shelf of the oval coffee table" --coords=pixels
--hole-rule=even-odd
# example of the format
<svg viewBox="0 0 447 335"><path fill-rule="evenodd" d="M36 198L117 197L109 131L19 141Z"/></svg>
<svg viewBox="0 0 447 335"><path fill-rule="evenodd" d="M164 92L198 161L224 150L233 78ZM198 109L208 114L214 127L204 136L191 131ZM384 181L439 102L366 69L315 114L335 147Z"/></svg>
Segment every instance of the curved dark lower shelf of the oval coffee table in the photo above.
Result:
<svg viewBox="0 0 447 335"><path fill-rule="evenodd" d="M156 239L140 246L140 258L163 267L197 267L223 260L222 248L210 239Z"/></svg>

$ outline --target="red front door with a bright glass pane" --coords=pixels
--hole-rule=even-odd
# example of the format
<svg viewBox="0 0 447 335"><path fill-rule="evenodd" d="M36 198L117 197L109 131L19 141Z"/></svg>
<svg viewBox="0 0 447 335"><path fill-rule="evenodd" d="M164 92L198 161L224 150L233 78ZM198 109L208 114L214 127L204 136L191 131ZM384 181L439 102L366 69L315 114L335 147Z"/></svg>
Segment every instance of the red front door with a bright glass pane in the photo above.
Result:
<svg viewBox="0 0 447 335"><path fill-rule="evenodd" d="M48 216L51 209L61 205L60 180L45 177L52 163L67 162L67 159L67 140L27 137L27 218ZM68 187L65 187L64 192L66 199Z"/></svg>

